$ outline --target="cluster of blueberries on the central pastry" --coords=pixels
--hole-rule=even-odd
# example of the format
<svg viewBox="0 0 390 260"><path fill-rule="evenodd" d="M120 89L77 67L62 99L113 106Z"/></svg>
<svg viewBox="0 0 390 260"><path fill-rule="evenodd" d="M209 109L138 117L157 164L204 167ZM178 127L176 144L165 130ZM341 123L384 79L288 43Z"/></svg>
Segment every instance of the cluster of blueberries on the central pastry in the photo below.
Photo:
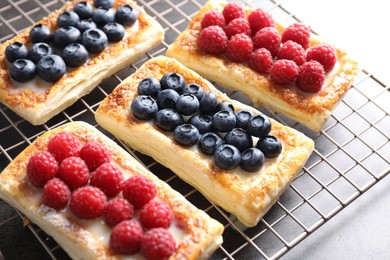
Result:
<svg viewBox="0 0 390 260"><path fill-rule="evenodd" d="M140 120L154 119L163 131L173 131L180 145L198 144L203 154L214 155L214 163L221 169L240 165L245 171L258 171L264 157L277 157L282 150L280 141L269 135L268 117L248 110L235 112L231 103L218 102L215 93L205 93L195 83L186 84L177 73L167 73L160 81L143 79L131 111ZM253 147L255 138L258 141Z"/></svg>

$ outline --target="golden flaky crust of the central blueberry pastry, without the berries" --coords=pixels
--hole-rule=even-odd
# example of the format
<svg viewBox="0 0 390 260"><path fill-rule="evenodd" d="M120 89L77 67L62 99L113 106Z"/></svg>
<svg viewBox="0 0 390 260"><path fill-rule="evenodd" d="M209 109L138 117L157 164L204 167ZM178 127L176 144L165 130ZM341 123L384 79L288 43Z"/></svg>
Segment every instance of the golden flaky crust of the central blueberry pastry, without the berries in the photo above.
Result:
<svg viewBox="0 0 390 260"><path fill-rule="evenodd" d="M239 168L231 171L219 169L214 166L211 156L201 154L196 147L185 148L176 144L171 133L159 130L150 121L139 121L132 116L130 104L137 96L138 83L146 77L160 79L168 72L179 73L186 83L197 83L205 91L216 93L219 101L232 102L236 110L260 113L229 99L175 59L157 57L125 79L100 104L95 114L97 122L133 148L173 170L211 201L236 215L246 226L255 226L306 162L313 150L313 141L272 120L271 134L283 144L282 153L277 158L266 159L263 168L254 173Z"/></svg>

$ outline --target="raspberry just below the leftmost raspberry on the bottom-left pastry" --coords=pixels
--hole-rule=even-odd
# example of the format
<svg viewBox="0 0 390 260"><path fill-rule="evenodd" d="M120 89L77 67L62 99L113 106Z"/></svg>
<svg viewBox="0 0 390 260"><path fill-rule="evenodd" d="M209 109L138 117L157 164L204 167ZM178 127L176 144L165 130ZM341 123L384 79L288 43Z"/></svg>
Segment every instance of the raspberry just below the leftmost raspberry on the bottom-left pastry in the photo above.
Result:
<svg viewBox="0 0 390 260"><path fill-rule="evenodd" d="M70 199L70 189L58 178L51 179L43 187L43 204L53 209L63 209Z"/></svg>

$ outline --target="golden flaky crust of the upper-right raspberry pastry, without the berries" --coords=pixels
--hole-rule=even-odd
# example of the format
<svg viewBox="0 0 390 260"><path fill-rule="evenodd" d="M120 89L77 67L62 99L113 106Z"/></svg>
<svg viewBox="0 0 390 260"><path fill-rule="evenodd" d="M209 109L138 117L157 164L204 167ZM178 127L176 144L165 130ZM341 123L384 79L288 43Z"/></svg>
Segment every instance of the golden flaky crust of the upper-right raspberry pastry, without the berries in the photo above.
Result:
<svg viewBox="0 0 390 260"><path fill-rule="evenodd" d="M247 64L230 62L223 55L217 57L205 54L198 50L196 45L203 16L210 10L222 11L226 4L224 0L207 2L191 20L187 29L169 46L166 55L176 58L210 80L241 91L256 105L268 106L309 129L319 131L352 85L359 72L357 63L344 51L336 48L338 62L327 74L324 87L318 93L309 94L296 87L277 85L266 75L251 70ZM251 10L246 8L247 14ZM283 32L282 25L277 24L276 27L280 33ZM322 43L322 40L311 37L311 46L319 43Z"/></svg>

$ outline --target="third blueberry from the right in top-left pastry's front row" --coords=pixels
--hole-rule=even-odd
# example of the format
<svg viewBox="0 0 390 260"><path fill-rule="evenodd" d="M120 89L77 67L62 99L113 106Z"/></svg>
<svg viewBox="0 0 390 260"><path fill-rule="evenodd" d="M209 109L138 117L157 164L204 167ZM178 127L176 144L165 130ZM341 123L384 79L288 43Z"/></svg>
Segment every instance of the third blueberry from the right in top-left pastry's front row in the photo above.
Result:
<svg viewBox="0 0 390 260"><path fill-rule="evenodd" d="M89 29L83 32L81 43L90 53L99 53L108 46L106 34L99 29Z"/></svg>

